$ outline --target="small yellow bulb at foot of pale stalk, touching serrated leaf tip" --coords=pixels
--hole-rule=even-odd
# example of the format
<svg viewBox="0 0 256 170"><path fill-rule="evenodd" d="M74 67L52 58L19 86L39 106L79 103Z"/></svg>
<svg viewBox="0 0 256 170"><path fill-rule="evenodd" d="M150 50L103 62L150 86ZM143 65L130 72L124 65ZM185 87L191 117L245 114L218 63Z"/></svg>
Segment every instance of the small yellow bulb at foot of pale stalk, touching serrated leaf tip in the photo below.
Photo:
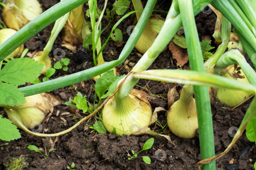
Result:
<svg viewBox="0 0 256 170"><path fill-rule="evenodd" d="M32 59L38 61L39 63L44 64L42 72L40 74L44 74L46 73L47 70L49 70L50 68L52 68L52 60L50 59L50 57L47 56L43 56L43 51L39 51L37 52Z"/></svg>

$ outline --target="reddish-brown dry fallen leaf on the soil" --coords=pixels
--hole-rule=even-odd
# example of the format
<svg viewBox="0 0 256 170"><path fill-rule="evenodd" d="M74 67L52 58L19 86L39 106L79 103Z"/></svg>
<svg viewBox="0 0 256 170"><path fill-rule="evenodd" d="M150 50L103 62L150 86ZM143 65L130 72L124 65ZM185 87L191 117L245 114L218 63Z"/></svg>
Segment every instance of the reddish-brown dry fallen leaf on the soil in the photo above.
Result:
<svg viewBox="0 0 256 170"><path fill-rule="evenodd" d="M169 50L172 52L173 58L176 59L181 66L187 63L187 50L174 44L173 40L169 43Z"/></svg>

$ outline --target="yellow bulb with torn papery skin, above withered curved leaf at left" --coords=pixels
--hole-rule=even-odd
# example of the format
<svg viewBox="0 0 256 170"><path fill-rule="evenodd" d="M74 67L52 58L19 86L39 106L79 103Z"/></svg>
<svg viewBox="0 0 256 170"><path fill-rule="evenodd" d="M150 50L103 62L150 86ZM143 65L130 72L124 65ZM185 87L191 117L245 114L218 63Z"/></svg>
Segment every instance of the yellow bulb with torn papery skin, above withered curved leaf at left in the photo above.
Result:
<svg viewBox="0 0 256 170"><path fill-rule="evenodd" d="M28 129L34 128L34 125L39 122L43 122L45 113L36 107L23 107L16 109L5 109L8 118L13 122L14 125L21 128L18 123L14 120L17 118L25 127ZM35 123L36 122L36 123Z"/></svg>

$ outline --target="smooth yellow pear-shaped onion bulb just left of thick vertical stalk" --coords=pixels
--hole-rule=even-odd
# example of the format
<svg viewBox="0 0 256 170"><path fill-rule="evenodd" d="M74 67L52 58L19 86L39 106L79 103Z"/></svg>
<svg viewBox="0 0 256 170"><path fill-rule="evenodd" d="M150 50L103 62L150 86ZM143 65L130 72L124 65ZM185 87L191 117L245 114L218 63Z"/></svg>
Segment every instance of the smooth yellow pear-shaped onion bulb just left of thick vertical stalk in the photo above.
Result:
<svg viewBox="0 0 256 170"><path fill-rule="evenodd" d="M196 102L193 98L193 90L183 88L180 99L168 110L168 127L176 136L181 138L193 138L198 128Z"/></svg>

